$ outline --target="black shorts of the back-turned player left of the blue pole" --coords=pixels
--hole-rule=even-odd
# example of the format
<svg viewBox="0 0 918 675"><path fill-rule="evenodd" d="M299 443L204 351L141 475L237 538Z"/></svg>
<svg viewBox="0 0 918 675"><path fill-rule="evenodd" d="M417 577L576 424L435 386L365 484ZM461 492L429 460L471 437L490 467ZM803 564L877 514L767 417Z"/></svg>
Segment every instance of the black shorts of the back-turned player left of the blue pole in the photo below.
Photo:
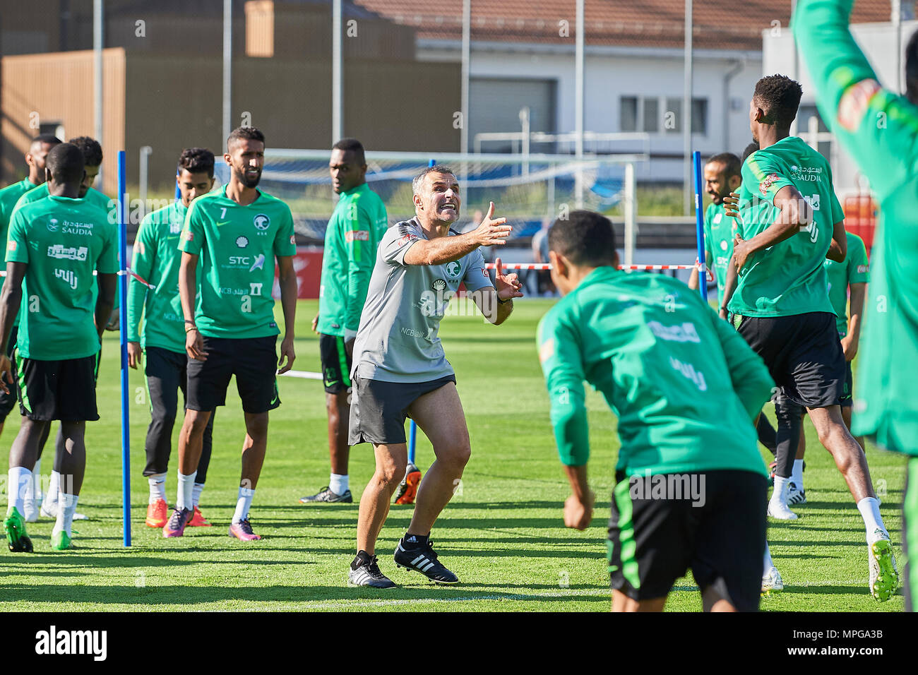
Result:
<svg viewBox="0 0 918 675"><path fill-rule="evenodd" d="M39 361L16 354L19 412L29 420L95 422L99 354Z"/></svg>

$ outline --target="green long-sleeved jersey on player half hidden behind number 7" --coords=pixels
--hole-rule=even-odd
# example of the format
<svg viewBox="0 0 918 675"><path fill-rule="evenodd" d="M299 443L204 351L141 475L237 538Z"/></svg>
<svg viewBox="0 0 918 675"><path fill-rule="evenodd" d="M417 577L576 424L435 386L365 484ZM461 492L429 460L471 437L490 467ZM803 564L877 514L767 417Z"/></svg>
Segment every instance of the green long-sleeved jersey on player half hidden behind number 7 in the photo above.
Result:
<svg viewBox="0 0 918 675"><path fill-rule="evenodd" d="M185 354L185 317L178 294L178 270L187 208L176 200L160 208L140 223L134 242L131 268L155 288L149 288L131 277L128 281L128 340L147 346L162 347ZM140 334L140 318L143 333Z"/></svg>

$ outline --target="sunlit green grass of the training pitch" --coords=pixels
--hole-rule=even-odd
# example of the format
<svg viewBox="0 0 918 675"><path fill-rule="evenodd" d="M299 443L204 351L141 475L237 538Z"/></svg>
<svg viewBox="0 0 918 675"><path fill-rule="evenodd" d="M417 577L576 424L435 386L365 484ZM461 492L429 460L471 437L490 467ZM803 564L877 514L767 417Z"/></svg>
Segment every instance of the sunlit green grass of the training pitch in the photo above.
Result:
<svg viewBox="0 0 918 675"><path fill-rule="evenodd" d="M433 531L437 550L463 583L440 588L414 572L396 569L391 551L409 523L410 507L394 506L378 550L395 591L346 587L354 553L357 504L303 506L297 499L325 485L328 472L324 394L314 380L281 378L284 404L271 416L268 456L258 484L252 522L261 542L227 536L239 478L241 407L230 385L229 405L218 411L214 454L202 499L212 528L191 528L164 539L143 524L147 484L141 476L149 422L143 380L131 373L131 496L133 546L121 543L118 348L106 334L99 379L102 420L87 432L88 467L76 523L78 548L50 551L50 521L29 525L36 553L0 551L0 610L137 612L177 610L437 610L605 611L605 523L618 448L615 422L602 400L588 397L593 443L591 483L599 496L586 532L565 529L561 505L568 489L554 450L548 399L535 354L535 324L549 300L518 303L500 327L479 318L450 316L442 338L456 370L469 422L472 459L461 491ZM308 321L316 302L297 311L297 363L319 370L319 348ZM768 409L769 412L770 409ZM10 418L4 443L16 433ZM773 419L773 418L772 418ZM177 433L177 429L176 429ZM786 590L766 598L765 610L902 611L901 591L873 601L867 589L867 548L860 517L831 459L807 422L805 474L810 503L795 507L800 520L769 523L769 541ZM422 438L422 434L419 434ZM174 499L175 459L168 495ZM351 481L361 493L373 471L368 445L352 451ZM901 456L868 448L873 479L885 489L883 516L901 544ZM421 440L420 467L432 460ZM50 471L50 453L44 473ZM762 505L765 508L765 504ZM900 559L900 566L901 566ZM680 579L669 610L700 609L693 581Z"/></svg>

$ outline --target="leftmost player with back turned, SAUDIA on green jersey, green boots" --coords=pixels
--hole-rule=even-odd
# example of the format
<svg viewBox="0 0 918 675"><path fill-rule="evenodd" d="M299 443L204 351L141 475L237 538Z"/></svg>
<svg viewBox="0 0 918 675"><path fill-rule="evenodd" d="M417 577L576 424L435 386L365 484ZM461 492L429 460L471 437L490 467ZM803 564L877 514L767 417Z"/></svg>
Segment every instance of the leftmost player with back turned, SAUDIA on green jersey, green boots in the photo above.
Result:
<svg viewBox="0 0 918 675"><path fill-rule="evenodd" d="M0 295L0 337L9 339L18 313L17 373L0 353L0 379L17 386L22 422L9 452L6 543L30 552L22 518L39 443L51 420L61 421L57 523L51 548L71 547L73 513L86 464L85 423L98 420L95 377L100 337L111 313L118 273L117 229L106 211L77 197L84 159L71 143L48 153L49 197L18 208L6 244L6 284ZM98 271L96 282L94 271ZM20 309L21 301L21 309ZM66 339L62 339L66 336Z"/></svg>

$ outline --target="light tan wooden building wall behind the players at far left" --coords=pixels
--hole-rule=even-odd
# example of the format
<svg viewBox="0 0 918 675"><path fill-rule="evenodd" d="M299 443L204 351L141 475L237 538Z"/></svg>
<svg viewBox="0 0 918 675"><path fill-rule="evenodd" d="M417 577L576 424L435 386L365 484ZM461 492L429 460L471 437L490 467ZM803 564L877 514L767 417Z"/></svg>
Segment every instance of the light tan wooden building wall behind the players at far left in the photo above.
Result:
<svg viewBox="0 0 918 675"><path fill-rule="evenodd" d="M3 68L3 183L8 185L25 175L23 155L29 140L39 133L39 124L56 121L67 139L95 136L94 67L92 51L7 56ZM118 190L116 152L125 142L125 52L103 52L103 138L102 189L114 195Z"/></svg>

